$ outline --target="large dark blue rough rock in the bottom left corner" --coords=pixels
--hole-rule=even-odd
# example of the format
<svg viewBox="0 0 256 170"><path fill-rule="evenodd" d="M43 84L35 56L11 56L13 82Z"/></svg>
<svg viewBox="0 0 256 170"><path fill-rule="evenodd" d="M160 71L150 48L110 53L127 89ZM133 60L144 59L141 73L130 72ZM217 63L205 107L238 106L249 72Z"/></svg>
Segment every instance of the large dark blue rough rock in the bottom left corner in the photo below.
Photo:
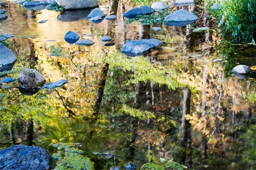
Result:
<svg viewBox="0 0 256 170"><path fill-rule="evenodd" d="M0 150L0 169L47 170L51 163L52 157L41 147L21 144Z"/></svg>

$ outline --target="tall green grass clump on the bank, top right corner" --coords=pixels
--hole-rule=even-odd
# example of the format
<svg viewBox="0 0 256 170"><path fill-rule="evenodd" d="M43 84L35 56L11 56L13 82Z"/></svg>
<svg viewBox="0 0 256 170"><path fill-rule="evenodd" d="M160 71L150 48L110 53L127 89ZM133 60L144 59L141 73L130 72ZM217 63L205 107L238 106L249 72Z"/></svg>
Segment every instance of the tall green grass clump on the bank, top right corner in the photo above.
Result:
<svg viewBox="0 0 256 170"><path fill-rule="evenodd" d="M232 43L255 43L256 1L217 1L220 9L212 10L224 39Z"/></svg>

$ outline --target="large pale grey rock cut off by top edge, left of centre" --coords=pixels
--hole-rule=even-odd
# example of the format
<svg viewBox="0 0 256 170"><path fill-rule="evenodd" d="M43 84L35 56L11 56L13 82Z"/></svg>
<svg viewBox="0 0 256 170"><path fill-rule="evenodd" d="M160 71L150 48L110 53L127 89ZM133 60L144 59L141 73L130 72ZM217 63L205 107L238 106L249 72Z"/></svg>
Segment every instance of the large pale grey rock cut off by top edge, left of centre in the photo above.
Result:
<svg viewBox="0 0 256 170"><path fill-rule="evenodd" d="M99 6L98 0L55 0L64 9L84 9Z"/></svg>

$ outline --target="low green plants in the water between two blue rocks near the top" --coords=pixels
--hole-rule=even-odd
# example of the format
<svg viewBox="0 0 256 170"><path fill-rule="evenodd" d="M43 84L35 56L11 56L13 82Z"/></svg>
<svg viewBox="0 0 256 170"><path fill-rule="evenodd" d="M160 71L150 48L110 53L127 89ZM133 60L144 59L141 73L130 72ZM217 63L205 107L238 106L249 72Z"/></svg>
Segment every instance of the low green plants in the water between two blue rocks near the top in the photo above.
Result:
<svg viewBox="0 0 256 170"><path fill-rule="evenodd" d="M137 15L136 18L127 19L125 23L134 21L140 22L142 25L163 24L165 17L169 14L168 11L154 12L150 15Z"/></svg>

